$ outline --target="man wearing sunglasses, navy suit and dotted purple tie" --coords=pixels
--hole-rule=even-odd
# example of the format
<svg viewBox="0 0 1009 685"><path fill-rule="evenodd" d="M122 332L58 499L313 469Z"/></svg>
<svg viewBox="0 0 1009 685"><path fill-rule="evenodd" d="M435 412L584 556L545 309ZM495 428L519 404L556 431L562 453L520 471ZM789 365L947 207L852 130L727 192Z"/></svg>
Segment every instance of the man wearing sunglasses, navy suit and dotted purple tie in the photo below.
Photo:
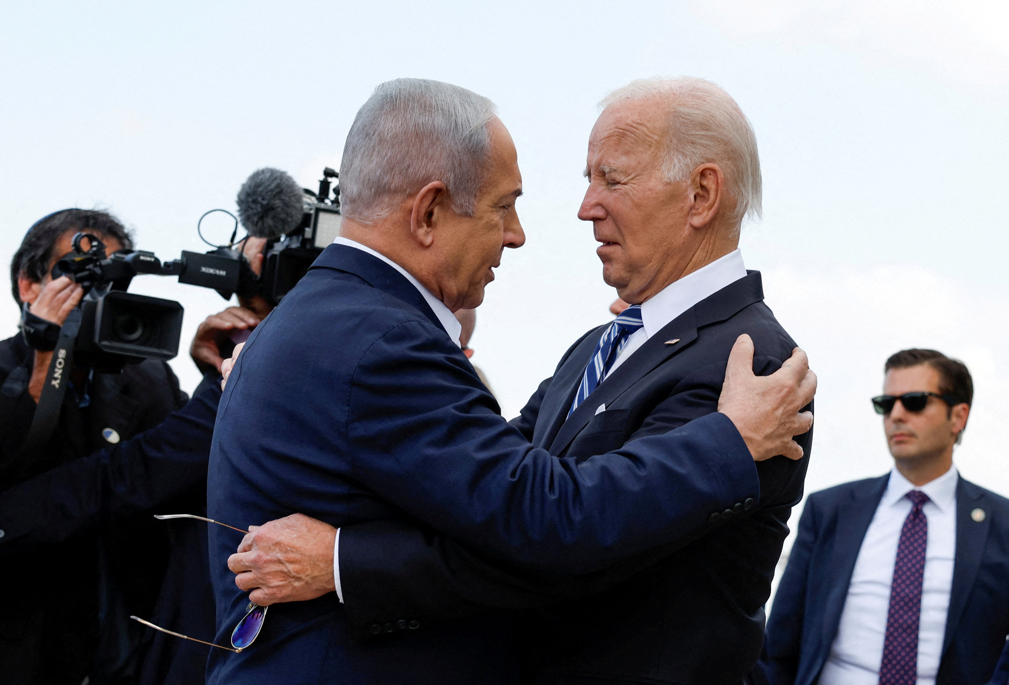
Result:
<svg viewBox="0 0 1009 685"><path fill-rule="evenodd" d="M933 350L885 370L894 467L809 496L768 623L774 685L982 685L1006 643L1009 500L952 462L971 374Z"/></svg>

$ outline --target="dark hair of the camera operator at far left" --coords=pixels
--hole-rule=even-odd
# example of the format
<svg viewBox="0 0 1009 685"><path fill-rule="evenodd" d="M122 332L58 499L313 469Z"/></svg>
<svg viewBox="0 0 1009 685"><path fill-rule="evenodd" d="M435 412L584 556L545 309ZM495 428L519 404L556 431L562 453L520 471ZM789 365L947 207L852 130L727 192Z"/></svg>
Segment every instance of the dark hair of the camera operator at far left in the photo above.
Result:
<svg viewBox="0 0 1009 685"><path fill-rule="evenodd" d="M24 276L29 280L41 282L49 270L52 258L62 256L52 254L57 241L68 231L74 230L115 238L124 250L133 249L130 232L108 212L64 210L50 214L28 230L28 234L21 241L21 247L10 261L11 292L18 304L21 304L21 297L17 291L18 277Z"/></svg>

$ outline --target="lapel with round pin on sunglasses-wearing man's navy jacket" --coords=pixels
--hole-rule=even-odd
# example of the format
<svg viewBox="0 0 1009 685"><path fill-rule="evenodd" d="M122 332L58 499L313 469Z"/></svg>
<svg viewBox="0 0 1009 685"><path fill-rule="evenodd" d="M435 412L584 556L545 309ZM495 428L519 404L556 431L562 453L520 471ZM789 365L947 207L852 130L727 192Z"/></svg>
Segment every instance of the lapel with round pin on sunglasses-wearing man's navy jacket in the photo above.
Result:
<svg viewBox="0 0 1009 685"><path fill-rule="evenodd" d="M985 493L981 488L963 477L957 481L957 552L952 565L952 587L949 590L949 611L946 613L945 636L942 639L943 654L952 642L974 586L981 557L985 553L991 511L984 505ZM981 509L989 516L983 521L975 521L971 518L971 512L975 509Z"/></svg>

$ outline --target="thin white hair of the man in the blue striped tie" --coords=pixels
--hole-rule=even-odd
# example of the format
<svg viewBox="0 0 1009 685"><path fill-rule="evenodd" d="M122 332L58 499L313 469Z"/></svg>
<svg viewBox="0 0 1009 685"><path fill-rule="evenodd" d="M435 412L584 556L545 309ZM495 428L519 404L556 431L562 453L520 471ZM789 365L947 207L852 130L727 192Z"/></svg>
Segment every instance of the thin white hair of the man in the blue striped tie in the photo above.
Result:
<svg viewBox="0 0 1009 685"><path fill-rule="evenodd" d="M717 164L736 199L730 217L743 223L761 216L762 180L757 136L743 110L721 88L703 79L642 79L618 89L601 109L636 100L668 104L669 139L663 172L669 181L685 181L704 163Z"/></svg>

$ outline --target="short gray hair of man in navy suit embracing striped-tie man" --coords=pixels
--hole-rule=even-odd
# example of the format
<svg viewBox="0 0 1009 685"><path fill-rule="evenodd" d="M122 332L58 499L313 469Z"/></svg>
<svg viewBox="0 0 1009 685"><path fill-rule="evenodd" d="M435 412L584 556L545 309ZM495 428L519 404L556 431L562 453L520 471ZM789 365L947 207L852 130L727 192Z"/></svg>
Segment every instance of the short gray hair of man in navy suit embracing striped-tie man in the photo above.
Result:
<svg viewBox="0 0 1009 685"><path fill-rule="evenodd" d="M343 216L370 222L431 181L448 187L452 209L473 216L490 150L494 105L459 86L397 79L374 90L343 148Z"/></svg>

